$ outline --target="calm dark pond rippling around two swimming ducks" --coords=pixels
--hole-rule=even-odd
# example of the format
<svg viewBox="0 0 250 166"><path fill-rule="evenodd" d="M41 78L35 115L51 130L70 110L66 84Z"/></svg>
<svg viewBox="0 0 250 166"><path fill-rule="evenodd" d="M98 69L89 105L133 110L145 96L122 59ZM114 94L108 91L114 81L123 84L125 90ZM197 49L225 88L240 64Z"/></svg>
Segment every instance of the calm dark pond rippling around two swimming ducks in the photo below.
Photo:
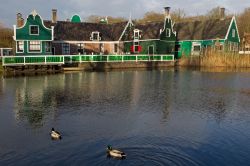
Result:
<svg viewBox="0 0 250 166"><path fill-rule="evenodd" d="M250 73L0 78L0 165L248 165ZM54 127L61 140L51 140ZM109 158L107 145L127 154Z"/></svg>

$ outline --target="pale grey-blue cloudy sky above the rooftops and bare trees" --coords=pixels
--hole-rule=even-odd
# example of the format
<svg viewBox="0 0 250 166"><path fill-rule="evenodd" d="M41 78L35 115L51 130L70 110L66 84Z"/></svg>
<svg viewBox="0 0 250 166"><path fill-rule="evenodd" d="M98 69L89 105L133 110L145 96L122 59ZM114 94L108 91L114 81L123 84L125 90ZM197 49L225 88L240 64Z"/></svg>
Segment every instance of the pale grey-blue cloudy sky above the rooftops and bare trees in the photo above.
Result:
<svg viewBox="0 0 250 166"><path fill-rule="evenodd" d="M59 20L78 14L84 18L89 15L142 17L148 11L163 12L163 7L171 10L183 9L188 15L204 14L210 9L223 6L229 13L240 13L250 7L250 0L0 0L0 22L12 27L16 24L16 13L24 18L36 10L44 19L51 18L51 9L58 10Z"/></svg>

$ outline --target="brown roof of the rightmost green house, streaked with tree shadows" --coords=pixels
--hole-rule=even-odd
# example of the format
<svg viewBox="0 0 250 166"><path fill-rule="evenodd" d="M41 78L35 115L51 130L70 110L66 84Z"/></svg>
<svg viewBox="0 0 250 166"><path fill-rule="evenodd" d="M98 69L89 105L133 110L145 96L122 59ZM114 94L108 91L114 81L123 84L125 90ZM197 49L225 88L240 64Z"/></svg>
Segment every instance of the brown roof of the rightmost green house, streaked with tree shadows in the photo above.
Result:
<svg viewBox="0 0 250 166"><path fill-rule="evenodd" d="M174 25L178 40L224 39L232 18L180 22Z"/></svg>

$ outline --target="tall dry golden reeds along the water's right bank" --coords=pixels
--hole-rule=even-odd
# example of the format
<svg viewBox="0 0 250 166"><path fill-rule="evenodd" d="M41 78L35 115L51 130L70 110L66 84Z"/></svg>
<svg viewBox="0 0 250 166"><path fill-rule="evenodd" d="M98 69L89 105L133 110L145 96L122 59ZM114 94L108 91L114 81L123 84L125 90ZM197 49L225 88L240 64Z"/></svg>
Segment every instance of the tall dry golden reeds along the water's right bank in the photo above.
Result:
<svg viewBox="0 0 250 166"><path fill-rule="evenodd" d="M250 55L212 53L205 56L183 57L180 66L250 68Z"/></svg>

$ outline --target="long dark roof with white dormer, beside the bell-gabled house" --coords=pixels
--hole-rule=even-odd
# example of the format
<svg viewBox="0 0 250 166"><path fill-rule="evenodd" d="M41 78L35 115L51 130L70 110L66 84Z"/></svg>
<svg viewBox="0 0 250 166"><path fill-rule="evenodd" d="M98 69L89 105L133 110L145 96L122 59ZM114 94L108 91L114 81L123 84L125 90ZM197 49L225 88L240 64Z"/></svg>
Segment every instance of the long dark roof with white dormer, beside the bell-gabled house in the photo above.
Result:
<svg viewBox="0 0 250 166"><path fill-rule="evenodd" d="M116 24L72 23L67 21L44 21L47 27L54 26L55 40L90 41L92 32L100 32L102 41L118 41L127 22Z"/></svg>

